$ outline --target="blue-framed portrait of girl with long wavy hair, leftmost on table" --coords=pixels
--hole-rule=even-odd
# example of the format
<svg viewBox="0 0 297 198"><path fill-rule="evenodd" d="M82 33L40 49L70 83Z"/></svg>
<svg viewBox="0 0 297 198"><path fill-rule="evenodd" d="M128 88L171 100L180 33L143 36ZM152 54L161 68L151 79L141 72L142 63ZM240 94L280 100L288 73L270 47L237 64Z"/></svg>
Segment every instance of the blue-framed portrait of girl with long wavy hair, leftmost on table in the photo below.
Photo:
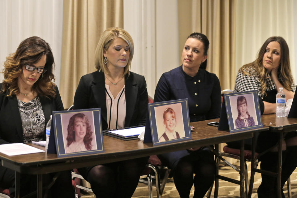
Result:
<svg viewBox="0 0 297 198"><path fill-rule="evenodd" d="M76 150L77 147L71 147L71 144L75 141L72 141L71 144L68 145L69 140L67 140L66 137L71 131L68 130L68 127L71 125L70 123L74 123L77 115L84 116L84 123L86 122L85 120L88 120L88 125L86 126L86 135L88 134L88 138L86 140L88 140L88 143L84 142L85 150ZM71 118L73 122L70 121ZM71 111L53 111L52 126L54 127L54 139L58 157L90 155L104 152L101 124L101 108ZM75 131L73 131L73 135L75 135Z"/></svg>

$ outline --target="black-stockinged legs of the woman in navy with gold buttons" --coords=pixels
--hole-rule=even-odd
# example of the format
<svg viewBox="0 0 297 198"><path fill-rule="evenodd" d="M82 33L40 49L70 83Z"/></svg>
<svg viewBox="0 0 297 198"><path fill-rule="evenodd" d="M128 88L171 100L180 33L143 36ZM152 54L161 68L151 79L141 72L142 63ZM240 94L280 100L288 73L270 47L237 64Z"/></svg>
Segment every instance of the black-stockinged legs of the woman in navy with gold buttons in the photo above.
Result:
<svg viewBox="0 0 297 198"><path fill-rule="evenodd" d="M209 151L202 152L206 153L197 160L189 160L186 156L175 167L173 179L181 198L189 198L193 184L195 187L193 198L203 198L214 181L216 165L213 155Z"/></svg>

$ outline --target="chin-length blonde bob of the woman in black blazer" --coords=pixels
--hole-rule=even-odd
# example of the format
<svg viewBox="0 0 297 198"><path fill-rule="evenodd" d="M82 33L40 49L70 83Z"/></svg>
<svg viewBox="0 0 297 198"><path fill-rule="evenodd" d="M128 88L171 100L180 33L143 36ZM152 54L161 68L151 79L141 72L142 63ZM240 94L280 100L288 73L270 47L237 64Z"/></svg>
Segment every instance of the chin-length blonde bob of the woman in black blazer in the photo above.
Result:
<svg viewBox="0 0 297 198"><path fill-rule="evenodd" d="M95 68L99 71L102 70L106 74L109 73L106 64L104 64L103 62L105 58L103 56L103 51L104 49L107 51L107 49L110 47L111 43L114 41L115 38L122 38L129 45L130 55L127 65L125 66L123 75L126 75L127 73L128 75L130 75L129 68L133 58L134 43L130 34L122 28L107 28L103 32L95 50Z"/></svg>

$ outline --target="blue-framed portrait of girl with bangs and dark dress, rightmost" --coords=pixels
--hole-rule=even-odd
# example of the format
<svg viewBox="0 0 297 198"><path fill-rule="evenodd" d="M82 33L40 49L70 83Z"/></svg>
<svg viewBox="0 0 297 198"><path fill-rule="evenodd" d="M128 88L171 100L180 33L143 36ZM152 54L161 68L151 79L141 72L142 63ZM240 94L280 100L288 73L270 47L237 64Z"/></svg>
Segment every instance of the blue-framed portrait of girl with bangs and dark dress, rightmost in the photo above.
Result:
<svg viewBox="0 0 297 198"><path fill-rule="evenodd" d="M230 132L263 126L258 91L224 94Z"/></svg>

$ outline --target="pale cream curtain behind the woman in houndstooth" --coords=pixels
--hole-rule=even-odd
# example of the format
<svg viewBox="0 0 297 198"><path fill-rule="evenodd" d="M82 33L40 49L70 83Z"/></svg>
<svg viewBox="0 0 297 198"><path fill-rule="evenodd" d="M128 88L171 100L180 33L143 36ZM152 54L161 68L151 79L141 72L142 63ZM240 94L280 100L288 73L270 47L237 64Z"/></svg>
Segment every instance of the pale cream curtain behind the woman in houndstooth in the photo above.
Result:
<svg viewBox="0 0 297 198"><path fill-rule="evenodd" d="M293 76L296 74L294 46L296 39L294 35L294 28L296 28L296 26L294 27L294 11L296 12L294 3L296 2L294 0L237 1L237 69L256 59L256 55L266 39L272 36L281 36L289 46L291 70Z"/></svg>

